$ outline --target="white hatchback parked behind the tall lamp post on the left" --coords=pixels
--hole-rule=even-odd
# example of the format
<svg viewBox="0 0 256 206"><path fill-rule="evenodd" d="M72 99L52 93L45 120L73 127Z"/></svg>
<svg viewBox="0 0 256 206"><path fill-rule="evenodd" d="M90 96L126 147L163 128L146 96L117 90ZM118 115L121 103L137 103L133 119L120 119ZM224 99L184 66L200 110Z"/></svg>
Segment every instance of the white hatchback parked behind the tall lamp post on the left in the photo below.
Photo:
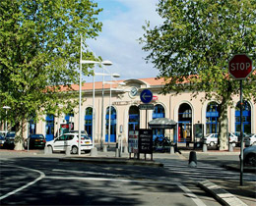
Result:
<svg viewBox="0 0 256 206"><path fill-rule="evenodd" d="M46 142L47 148L52 152L54 151L66 151L67 147L70 147L72 154L78 153L78 142L79 134L78 133L64 133L57 138ZM82 133L81 134L81 151L91 150L93 143L91 138Z"/></svg>

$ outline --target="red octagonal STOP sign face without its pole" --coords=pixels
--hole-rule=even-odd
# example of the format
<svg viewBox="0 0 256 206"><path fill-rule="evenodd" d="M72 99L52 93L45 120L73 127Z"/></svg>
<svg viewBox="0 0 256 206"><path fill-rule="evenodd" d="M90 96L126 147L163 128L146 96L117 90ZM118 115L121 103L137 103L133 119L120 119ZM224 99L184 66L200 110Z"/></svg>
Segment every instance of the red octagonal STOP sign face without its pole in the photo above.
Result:
<svg viewBox="0 0 256 206"><path fill-rule="evenodd" d="M246 54L234 55L228 63L228 73L236 78L243 79L252 72L252 60Z"/></svg>

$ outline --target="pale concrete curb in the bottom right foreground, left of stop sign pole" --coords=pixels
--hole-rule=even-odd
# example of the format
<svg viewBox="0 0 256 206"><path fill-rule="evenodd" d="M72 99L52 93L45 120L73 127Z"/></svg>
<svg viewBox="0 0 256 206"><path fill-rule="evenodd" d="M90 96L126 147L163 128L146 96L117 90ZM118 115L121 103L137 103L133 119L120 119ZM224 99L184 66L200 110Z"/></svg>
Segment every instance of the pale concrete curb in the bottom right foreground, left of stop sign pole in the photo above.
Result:
<svg viewBox="0 0 256 206"><path fill-rule="evenodd" d="M217 184L213 183L210 180L200 181L198 182L198 186L204 189L205 191L210 192L223 205L229 205L229 206L246 205L236 196L234 196L233 194L230 194L221 186L218 186Z"/></svg>

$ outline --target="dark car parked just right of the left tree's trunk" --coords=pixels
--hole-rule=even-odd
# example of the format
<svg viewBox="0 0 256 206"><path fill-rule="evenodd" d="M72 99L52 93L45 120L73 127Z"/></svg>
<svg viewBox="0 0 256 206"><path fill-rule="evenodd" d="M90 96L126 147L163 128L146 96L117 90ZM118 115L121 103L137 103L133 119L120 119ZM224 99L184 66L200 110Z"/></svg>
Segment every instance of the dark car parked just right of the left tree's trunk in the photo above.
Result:
<svg viewBox="0 0 256 206"><path fill-rule="evenodd" d="M45 147L45 143L46 140L43 134L31 134L25 141L25 148L28 148L29 146L29 149L43 149Z"/></svg>

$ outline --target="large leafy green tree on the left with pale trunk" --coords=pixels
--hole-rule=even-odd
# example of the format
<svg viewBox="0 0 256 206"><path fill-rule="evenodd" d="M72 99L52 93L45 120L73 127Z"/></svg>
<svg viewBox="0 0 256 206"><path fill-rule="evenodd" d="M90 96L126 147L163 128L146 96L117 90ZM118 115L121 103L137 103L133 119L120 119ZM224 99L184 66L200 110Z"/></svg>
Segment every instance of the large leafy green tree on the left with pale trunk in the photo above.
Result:
<svg viewBox="0 0 256 206"><path fill-rule="evenodd" d="M96 7L93 0L1 1L0 102L11 107L7 118L17 131L16 149L28 120L55 114L61 102L67 110L75 104L71 84L79 80L81 36L96 38L101 30ZM83 55L94 60L92 53Z"/></svg>

